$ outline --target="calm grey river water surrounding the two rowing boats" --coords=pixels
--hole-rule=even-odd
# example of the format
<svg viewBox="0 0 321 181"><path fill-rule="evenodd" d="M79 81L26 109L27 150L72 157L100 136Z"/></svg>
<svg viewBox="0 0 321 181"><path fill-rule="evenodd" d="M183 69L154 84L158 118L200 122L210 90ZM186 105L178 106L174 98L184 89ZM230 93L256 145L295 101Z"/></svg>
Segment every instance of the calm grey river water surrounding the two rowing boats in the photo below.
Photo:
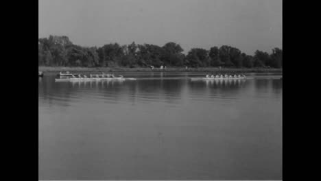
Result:
<svg viewBox="0 0 321 181"><path fill-rule="evenodd" d="M282 180L281 75L39 78L40 180Z"/></svg>

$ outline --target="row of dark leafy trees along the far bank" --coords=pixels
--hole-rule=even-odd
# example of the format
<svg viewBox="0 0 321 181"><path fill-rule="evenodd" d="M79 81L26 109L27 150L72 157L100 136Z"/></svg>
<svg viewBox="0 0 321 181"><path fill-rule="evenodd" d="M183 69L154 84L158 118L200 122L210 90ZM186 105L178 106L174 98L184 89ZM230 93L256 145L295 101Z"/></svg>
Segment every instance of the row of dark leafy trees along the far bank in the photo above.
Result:
<svg viewBox="0 0 321 181"><path fill-rule="evenodd" d="M211 49L193 48L187 55L174 42L163 47L152 44L102 47L74 45L67 36L38 38L38 64L64 67L273 67L282 68L283 51L274 48L272 53L255 51L247 55L235 47L222 45Z"/></svg>

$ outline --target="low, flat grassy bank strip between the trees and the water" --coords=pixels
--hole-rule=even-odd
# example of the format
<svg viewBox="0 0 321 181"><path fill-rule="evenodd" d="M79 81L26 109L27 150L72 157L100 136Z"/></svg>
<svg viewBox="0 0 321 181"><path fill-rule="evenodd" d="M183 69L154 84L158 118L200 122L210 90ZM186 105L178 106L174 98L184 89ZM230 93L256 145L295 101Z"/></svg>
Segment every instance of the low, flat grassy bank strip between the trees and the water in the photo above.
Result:
<svg viewBox="0 0 321 181"><path fill-rule="evenodd" d="M70 71L71 73L81 73L81 72L209 72L209 73L282 73L282 69L268 69L268 68L251 68L251 69L236 69L236 68L216 68L216 67L206 67L206 68L189 68L185 69L182 67L173 67L167 69L149 69L149 68L126 68L126 67L38 67L38 71L59 73L64 71Z"/></svg>

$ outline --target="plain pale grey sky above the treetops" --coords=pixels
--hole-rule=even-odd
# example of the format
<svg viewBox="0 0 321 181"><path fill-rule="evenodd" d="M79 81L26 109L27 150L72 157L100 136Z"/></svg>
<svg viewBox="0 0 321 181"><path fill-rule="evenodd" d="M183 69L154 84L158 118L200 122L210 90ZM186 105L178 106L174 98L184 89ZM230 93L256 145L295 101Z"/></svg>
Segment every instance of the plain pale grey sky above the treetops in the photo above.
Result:
<svg viewBox="0 0 321 181"><path fill-rule="evenodd" d="M108 43L230 45L253 54L282 48L282 0L39 0L39 38Z"/></svg>

